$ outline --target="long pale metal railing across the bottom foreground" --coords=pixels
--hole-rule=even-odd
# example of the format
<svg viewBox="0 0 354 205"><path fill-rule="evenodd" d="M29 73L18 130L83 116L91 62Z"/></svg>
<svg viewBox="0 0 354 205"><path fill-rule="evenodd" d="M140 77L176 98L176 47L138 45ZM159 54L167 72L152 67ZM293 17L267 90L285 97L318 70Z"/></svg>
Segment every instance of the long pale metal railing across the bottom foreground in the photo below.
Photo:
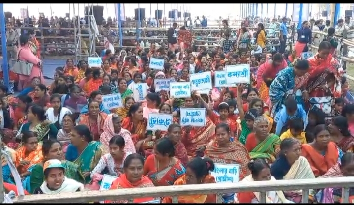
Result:
<svg viewBox="0 0 354 205"><path fill-rule="evenodd" d="M195 194L217 194L216 203L221 203L222 194L239 192L260 192L260 203L265 203L266 192L278 190L302 190L302 203L308 203L309 189L324 188L343 188L341 202L348 203L350 187L354 187L354 177L159 186L153 187L153 189L147 187L54 195L39 194L16 197L14 203L87 203L105 200L128 200L129 203L133 203L133 199L143 197L173 197L172 202L178 203L177 196Z"/></svg>

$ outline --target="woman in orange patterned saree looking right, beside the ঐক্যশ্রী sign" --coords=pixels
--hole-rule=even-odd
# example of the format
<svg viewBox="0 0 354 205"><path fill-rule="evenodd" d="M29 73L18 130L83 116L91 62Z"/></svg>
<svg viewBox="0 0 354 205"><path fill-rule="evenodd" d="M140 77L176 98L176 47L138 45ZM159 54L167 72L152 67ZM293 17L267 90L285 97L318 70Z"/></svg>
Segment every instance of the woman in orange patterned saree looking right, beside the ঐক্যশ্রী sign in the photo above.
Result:
<svg viewBox="0 0 354 205"><path fill-rule="evenodd" d="M148 120L143 117L143 107L140 104L130 106L128 117L122 120L121 126L132 134L138 152L145 154L145 150L153 148L155 142L152 141L151 131L147 131Z"/></svg>

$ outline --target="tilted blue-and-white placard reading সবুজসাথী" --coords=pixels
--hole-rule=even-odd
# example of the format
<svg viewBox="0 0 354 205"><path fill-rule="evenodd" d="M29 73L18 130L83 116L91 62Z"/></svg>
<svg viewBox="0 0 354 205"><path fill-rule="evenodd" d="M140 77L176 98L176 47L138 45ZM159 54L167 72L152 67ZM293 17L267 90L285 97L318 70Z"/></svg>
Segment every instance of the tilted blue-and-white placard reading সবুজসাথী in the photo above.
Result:
<svg viewBox="0 0 354 205"><path fill-rule="evenodd" d="M212 89L211 72L195 73L189 75L192 90Z"/></svg>

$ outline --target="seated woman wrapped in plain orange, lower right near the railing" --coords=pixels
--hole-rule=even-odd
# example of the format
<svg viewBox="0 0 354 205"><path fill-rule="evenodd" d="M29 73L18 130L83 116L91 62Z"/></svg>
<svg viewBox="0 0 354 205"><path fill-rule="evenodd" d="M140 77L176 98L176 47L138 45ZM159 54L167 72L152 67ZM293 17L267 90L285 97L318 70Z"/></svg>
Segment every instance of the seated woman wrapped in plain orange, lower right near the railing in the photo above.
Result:
<svg viewBox="0 0 354 205"><path fill-rule="evenodd" d="M313 130L314 142L302 145L301 155L310 163L314 175L322 176L342 157L343 152L330 141L330 133L324 124Z"/></svg>

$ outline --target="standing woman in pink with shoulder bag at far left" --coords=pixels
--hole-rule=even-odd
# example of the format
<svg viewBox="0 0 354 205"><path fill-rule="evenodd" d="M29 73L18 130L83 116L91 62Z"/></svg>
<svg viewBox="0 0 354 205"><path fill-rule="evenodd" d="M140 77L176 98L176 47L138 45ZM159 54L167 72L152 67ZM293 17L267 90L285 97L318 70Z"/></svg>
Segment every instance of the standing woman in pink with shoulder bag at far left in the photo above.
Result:
<svg viewBox="0 0 354 205"><path fill-rule="evenodd" d="M41 68L42 61L38 59L30 49L28 35L20 36L20 48L18 49L17 56L18 56L17 58L18 60L33 64L33 67L29 75L26 75L27 73L22 73L22 74L19 73L20 79L19 79L18 90L21 91L23 88L26 88L30 84L30 81L33 77L39 77L41 83L44 83L43 72Z"/></svg>

